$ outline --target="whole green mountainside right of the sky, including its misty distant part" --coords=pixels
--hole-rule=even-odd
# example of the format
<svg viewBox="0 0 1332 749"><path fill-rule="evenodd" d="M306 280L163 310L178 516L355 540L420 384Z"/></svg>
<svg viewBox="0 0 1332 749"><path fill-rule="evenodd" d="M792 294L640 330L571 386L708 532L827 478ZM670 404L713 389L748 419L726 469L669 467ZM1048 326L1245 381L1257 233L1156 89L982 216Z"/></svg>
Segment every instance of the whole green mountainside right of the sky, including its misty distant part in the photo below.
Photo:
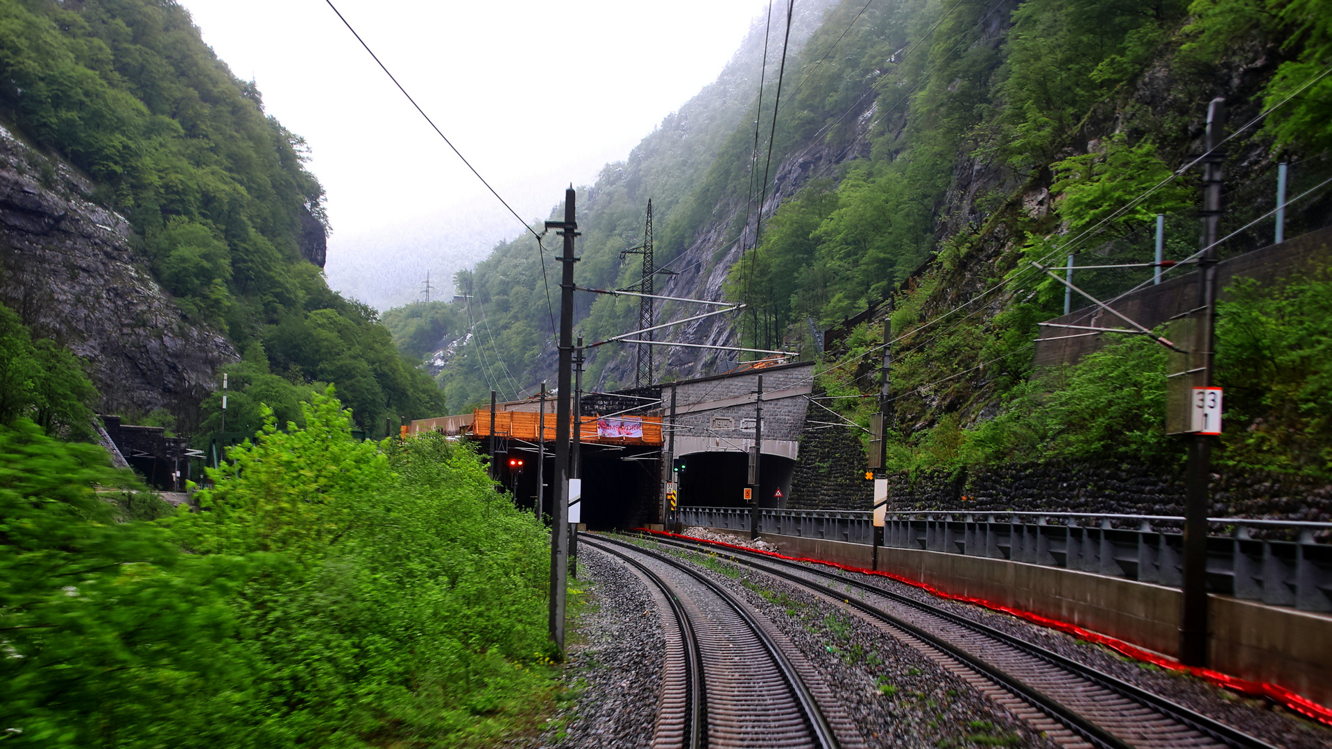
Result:
<svg viewBox="0 0 1332 749"><path fill-rule="evenodd" d="M787 61L769 175L769 196L777 197L763 213L758 248L730 267L725 288L730 299L749 304L738 323L741 340L759 348L801 347L813 356L813 327L829 328L887 303L900 336L892 376L898 466L998 460L998 445L1008 442L975 429L998 413L1044 413L1038 406L1051 397L1070 409L1063 421L1006 421L1030 437L1012 442L1012 457L1056 448L1060 454L1106 454L1096 450L1119 442L1094 438L1110 424L1092 417L1100 406L1070 393L1079 381L1114 380L1120 365L1112 361L1120 360L1094 357L1080 365L1083 374L1028 381L1035 323L1062 312L1063 288L1027 261L1063 264L1070 252L1079 265L1148 261L1158 213L1166 215L1167 259L1196 251L1197 168L1176 169L1201 152L1203 119L1215 96L1227 99L1235 132L1227 144L1223 219L1223 235L1235 237L1220 255L1271 241L1271 220L1257 220L1275 204L1279 160L1291 163L1289 195L1301 196L1288 211L1287 235L1325 225L1329 197L1319 185L1332 176L1329 17L1332 5L1324 0L835 4ZM579 284L633 281L637 264L613 255L631 247L639 232L642 207L631 196L666 196L654 200L654 208L666 207L657 223L658 264L690 248L695 255L711 248L710 259L699 260L715 264L731 243L753 245L745 228L753 229L761 196L775 81L769 77L762 108L757 95L754 81L747 113L715 141L706 164L691 164L677 192L665 189L665 181L630 181L631 157L607 167L579 193ZM774 201L779 207L771 211ZM461 279L460 288L477 296L472 319L462 316L474 337L442 376L457 393L452 402L481 400L477 385L488 374L490 386L503 384L502 393L550 376L543 281L539 268L526 264L534 253L530 237L515 240ZM1108 296L1147 273L1083 272L1078 279ZM1235 304L1312 304L1299 295L1251 297ZM1075 300L1074 307L1084 304ZM581 299L579 331L589 340L621 333L631 329L635 312L637 304L623 299ZM862 355L874 355L880 343L876 325L830 352L821 377L830 392L874 389L872 356ZM1285 336L1281 325L1268 333L1275 337L1253 345L1272 351ZM1252 351L1221 352L1221 361ZM587 377L597 381L606 359L615 356L623 352L598 351ZM1316 361L1307 352L1293 356ZM1135 361L1146 368L1136 371L1142 376L1162 377L1163 363ZM1255 424L1259 432L1268 429L1263 425L1283 434L1317 432L1309 420L1321 418L1321 406L1312 405L1305 388L1321 369L1301 372L1279 389L1283 396L1268 393L1261 404L1237 394L1236 433ZM1130 377L1123 388L1132 397L1115 405L1132 410L1122 414L1126 422L1148 420L1159 433L1156 385L1139 386ZM864 398L838 402L859 420L872 408ZM1148 441L1156 438L1148 434ZM1236 437L1245 444L1264 438ZM968 440L974 449L963 449ZM1139 450L1127 442L1120 445L1126 456ZM1277 442L1289 449L1276 450ZM1261 453L1267 457L1259 462L1285 468L1323 460L1312 442L1296 449L1285 437L1272 437L1265 444L1267 452L1235 448L1232 457L1249 461Z"/></svg>

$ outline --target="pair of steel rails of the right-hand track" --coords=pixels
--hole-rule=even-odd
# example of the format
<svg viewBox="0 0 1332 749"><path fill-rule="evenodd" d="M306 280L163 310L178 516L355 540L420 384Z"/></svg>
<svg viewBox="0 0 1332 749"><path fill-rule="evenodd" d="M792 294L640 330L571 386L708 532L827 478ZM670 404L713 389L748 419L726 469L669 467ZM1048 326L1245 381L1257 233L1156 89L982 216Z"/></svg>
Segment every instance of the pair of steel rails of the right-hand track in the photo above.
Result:
<svg viewBox="0 0 1332 749"><path fill-rule="evenodd" d="M651 538L654 541L663 542L666 545L671 545L671 546L677 546L677 548L682 548L682 549L690 549L690 550L698 550L698 549L717 550L715 546L711 546L709 544L701 544L701 542L691 544L691 542L687 542L687 541L675 540L675 538L661 538L661 537L651 537ZM1156 694L1154 692L1148 692L1148 690L1146 690L1146 689L1143 689L1140 686L1136 686L1134 684L1123 681L1123 680L1120 680L1120 678L1118 678L1115 676L1104 673L1104 672L1102 672L1102 670L1099 670L1099 669L1096 669L1094 666L1090 666L1087 664L1075 661L1072 658L1068 658L1067 656L1055 653L1054 650L1048 650L1046 648L1042 648L1039 645L1028 642L1027 640L1023 640L1020 637L1015 637L1015 636L1008 634L1006 632L1000 632L998 629L994 629L994 628L987 626L984 624L980 624L978 621L974 621L974 620L970 620L970 618L963 617L960 614L952 613L952 612L950 612L947 609L943 609L940 606L934 606L934 605L926 604L923 601L918 601L915 598L903 596L900 593L894 593L891 590L886 590L886 589L879 588L876 585L871 585L871 584L868 584L866 581L860 581L860 580L855 580L855 578L850 578L850 577L834 576L834 574L830 574L830 573L823 572L821 569L815 569L815 568L811 568L811 566L805 566L805 565L802 565L799 562L793 562L790 560L782 560L782 558L778 558L778 557L770 557L767 554L758 554L758 553L754 553L754 552L747 552L747 550L742 550L742 549L733 549L733 548L726 548L726 552L727 552L727 554L734 561L738 561L741 564L745 564L745 565L755 568L755 569L761 569L763 572L767 572L767 573L774 574L777 577L781 577L783 580L789 580L789 581L795 582L798 585L819 590L821 593L832 596L835 598L840 598L843 601L847 601L850 605L856 606L858 609L868 613L870 616L874 616L875 618L886 621L886 622L891 624L892 626L896 626L896 628L900 628L900 629L904 629L904 630L910 632L915 637L926 640L931 645L934 645L934 646L944 650L947 654L950 654L950 656L952 656L955 658L962 660L968 666L972 666L976 670L979 670L980 673L983 673L984 676L995 680L1004 689L1012 690L1019 697L1022 697L1024 700L1028 700L1034 706L1039 708L1040 710L1047 712L1047 714L1050 714L1055 720L1063 722L1066 726L1068 726L1074 732L1082 734L1083 738L1087 738L1087 740L1092 741L1094 744L1103 745L1103 746L1128 746L1127 744L1124 744L1118 737L1110 734L1104 728L1102 728L1102 726L1099 726L1099 725L1096 725L1096 724L1094 724L1094 722L1083 718L1082 716L1078 716L1076 713L1074 713L1072 710L1070 710L1068 708L1066 708L1063 704L1060 704L1056 698L1052 698L1052 697L1050 697L1047 694L1042 694L1040 692L1031 689L1030 686L1022 684L1020 680L1014 678L1014 677L1011 677L1008 674L1004 674L1002 670L994 668L990 664L983 662L980 658L978 658L975 656L971 656L970 653L962 650L960 648L952 645L951 642L943 641L942 638L936 637L935 634L932 634L930 632L926 632L926 630L920 629L919 626L912 625L912 624L910 624L907 621L903 621L900 617L896 617L896 616L894 616L894 614L891 614L888 612L884 612L884 610L879 609L878 606L874 606L872 604L867 604L864 601L850 598L843 592L838 592L838 590L834 590L834 589L827 588L825 585L819 585L817 582L811 582L809 580L797 577L794 574L782 572L779 569L773 569L773 566L786 566L786 568L798 569L798 570L805 572L807 574L813 573L813 574L817 574L817 576L829 577L831 580L835 580L836 582L846 584L846 585L852 585L852 586L855 586L858 589L862 589L862 590L864 590L867 593L872 593L875 596L883 596L883 597L890 598L890 600L892 600L895 602L899 602L899 604L907 605L910 608L915 608L915 609L923 610L923 612L926 612L926 613L928 613L931 616L938 616L938 617L944 618L944 620L947 620L947 621L950 621L952 624L956 624L959 626L970 629L970 630L972 630L972 632L975 632L978 634L990 637L992 640L998 640L998 641L1000 641L1000 642L1003 642L1006 645L1010 645L1012 648L1023 650L1027 654L1035 656L1036 658L1040 658L1042 661L1046 661L1046 662L1048 662L1050 665L1052 665L1055 668L1059 668L1059 669L1063 669L1063 670L1067 670L1067 672L1072 672L1076 676L1080 676L1080 677L1083 677L1083 678L1086 678L1086 680L1094 682L1094 684L1098 684L1099 686L1102 686L1104 689L1108 689L1108 690L1111 690L1114 693L1118 693L1119 696L1122 696L1122 697L1124 697L1127 700L1131 700L1131 701L1138 702L1140 705L1146 705L1148 708L1152 708L1152 709L1163 713L1166 717L1168 717L1171 720L1175 720L1175 721L1177 721L1177 722L1180 722L1180 724L1183 724L1185 726L1189 726L1193 730L1197 730L1197 732L1200 732L1200 733L1211 737L1212 740L1219 741L1219 742L1221 742L1221 744L1224 744L1227 746L1233 746L1236 749L1276 749L1273 745L1271 745L1271 744L1268 744L1268 742L1265 742L1265 741L1263 741L1263 740L1260 740L1257 737L1249 736L1249 734L1247 734L1247 733L1244 733L1244 732L1241 732L1241 730L1239 730L1239 729L1236 729L1233 726L1229 726L1229 725L1227 725L1224 722L1220 722L1217 720L1209 718L1209 717L1207 717L1207 716L1204 716L1201 713L1197 713L1197 712L1195 712L1195 710L1192 710L1189 708L1185 708L1184 705L1180 705L1180 704L1177 704L1177 702L1175 702L1175 701L1172 701L1172 700L1169 700L1167 697L1162 697L1160 694ZM755 561L759 561L759 560L763 561L763 562L769 562L769 564L767 565L754 564Z"/></svg>

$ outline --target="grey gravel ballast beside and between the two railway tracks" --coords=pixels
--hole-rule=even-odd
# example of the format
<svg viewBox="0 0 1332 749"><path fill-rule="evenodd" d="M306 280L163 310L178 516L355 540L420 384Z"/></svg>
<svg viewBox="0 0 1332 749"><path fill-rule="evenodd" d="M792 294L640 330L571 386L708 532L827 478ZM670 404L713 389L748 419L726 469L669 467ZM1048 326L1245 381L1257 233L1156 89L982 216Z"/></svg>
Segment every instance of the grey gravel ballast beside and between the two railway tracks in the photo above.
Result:
<svg viewBox="0 0 1332 749"><path fill-rule="evenodd" d="M717 536L729 542L743 541ZM715 554L647 545L705 570L762 612L814 666L871 746L1054 745L1002 705L842 605ZM551 730L537 745L649 746L665 661L661 612L653 592L618 558L589 546L583 549L579 574L589 584L587 604L571 625L567 670L577 698L557 714ZM938 598L892 580L809 566L821 574L856 576L884 590L974 618L1167 696L1276 746L1332 746L1328 728L1201 680L1144 666L1062 632Z"/></svg>

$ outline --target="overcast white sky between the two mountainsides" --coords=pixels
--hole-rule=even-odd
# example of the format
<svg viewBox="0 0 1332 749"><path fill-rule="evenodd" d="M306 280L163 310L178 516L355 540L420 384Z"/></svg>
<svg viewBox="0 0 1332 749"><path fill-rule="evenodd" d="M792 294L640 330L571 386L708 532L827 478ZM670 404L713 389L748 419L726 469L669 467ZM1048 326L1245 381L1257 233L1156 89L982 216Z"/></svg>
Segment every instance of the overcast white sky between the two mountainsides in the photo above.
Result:
<svg viewBox="0 0 1332 749"><path fill-rule="evenodd" d="M485 187L324 0L180 0L204 41L312 149L334 236L401 227ZM627 156L713 81L762 0L334 0L361 37L525 219ZM503 212L493 201L496 212ZM513 224L515 236L522 228Z"/></svg>

